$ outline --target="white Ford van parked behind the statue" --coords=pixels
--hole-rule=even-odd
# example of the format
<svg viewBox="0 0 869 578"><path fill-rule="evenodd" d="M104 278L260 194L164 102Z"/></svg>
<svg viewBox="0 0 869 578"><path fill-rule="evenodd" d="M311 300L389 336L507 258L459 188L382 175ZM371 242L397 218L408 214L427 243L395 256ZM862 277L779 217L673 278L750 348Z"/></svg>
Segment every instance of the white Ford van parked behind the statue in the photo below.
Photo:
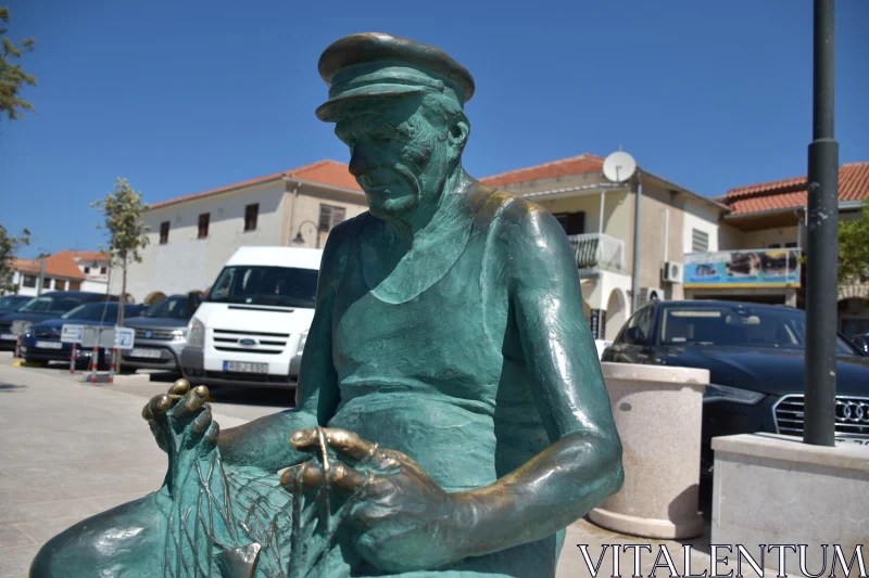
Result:
<svg viewBox="0 0 869 578"><path fill-rule="evenodd" d="M322 249L239 247L187 325L184 376L212 387L294 387L322 257Z"/></svg>

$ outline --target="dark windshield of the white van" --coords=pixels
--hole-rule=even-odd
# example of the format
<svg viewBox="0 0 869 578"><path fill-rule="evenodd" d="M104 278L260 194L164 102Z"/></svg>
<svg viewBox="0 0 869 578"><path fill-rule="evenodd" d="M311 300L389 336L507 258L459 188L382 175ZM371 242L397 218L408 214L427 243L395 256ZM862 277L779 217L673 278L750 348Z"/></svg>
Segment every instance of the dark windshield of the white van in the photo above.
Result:
<svg viewBox="0 0 869 578"><path fill-rule="evenodd" d="M318 271L292 267L225 267L209 292L210 303L314 307Z"/></svg>

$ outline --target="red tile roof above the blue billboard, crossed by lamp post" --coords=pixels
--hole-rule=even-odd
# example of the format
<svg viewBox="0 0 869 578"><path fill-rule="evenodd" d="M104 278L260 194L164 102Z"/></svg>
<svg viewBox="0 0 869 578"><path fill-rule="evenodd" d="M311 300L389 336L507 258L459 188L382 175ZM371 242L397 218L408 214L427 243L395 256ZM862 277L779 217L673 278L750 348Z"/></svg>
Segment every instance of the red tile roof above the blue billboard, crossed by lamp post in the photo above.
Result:
<svg viewBox="0 0 869 578"><path fill-rule="evenodd" d="M848 163L839 168L839 200L869 198L869 162ZM746 215L792 207L808 203L808 178L795 177L731 189L725 204L732 215Z"/></svg>

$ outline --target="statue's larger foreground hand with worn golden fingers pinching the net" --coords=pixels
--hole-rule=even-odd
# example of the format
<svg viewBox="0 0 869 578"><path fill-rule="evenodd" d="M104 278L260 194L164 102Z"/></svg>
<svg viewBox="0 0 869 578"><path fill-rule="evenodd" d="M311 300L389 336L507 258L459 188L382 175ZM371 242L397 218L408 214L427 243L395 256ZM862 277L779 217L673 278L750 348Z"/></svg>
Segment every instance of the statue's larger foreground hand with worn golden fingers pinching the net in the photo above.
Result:
<svg viewBox="0 0 869 578"><path fill-rule="evenodd" d="M314 462L295 466L281 478L285 489L292 491L295 476L301 475L307 488L320 488L326 481L352 494L348 522L354 526L354 545L379 569L430 569L454 561L463 516L456 500L419 464L351 432L323 428L323 435L347 463L330 460L328 472ZM317 429L298 431L290 440L300 451L325 449Z"/></svg>

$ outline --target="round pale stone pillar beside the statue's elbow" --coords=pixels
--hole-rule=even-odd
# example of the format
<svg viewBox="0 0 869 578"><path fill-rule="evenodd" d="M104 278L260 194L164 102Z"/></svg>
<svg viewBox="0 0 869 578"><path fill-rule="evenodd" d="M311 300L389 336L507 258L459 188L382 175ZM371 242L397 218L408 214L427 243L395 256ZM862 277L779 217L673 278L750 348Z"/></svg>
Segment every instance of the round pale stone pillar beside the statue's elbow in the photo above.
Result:
<svg viewBox="0 0 869 578"><path fill-rule="evenodd" d="M625 485L589 517L622 534L682 539L697 514L703 390L708 370L601 363L624 447Z"/></svg>

